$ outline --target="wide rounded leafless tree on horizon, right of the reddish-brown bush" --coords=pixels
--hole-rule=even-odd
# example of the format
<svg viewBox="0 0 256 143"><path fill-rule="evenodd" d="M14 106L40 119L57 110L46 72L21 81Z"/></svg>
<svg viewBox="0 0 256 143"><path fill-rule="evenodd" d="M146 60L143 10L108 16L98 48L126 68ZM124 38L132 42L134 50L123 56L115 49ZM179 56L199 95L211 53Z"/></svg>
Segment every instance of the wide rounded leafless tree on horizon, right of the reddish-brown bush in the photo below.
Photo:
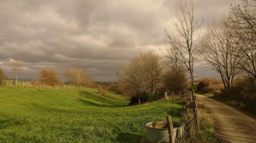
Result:
<svg viewBox="0 0 256 143"><path fill-rule="evenodd" d="M77 68L67 68L64 72L64 76L68 80L69 85L73 86L86 86L90 87L92 80L88 73L84 70Z"/></svg>

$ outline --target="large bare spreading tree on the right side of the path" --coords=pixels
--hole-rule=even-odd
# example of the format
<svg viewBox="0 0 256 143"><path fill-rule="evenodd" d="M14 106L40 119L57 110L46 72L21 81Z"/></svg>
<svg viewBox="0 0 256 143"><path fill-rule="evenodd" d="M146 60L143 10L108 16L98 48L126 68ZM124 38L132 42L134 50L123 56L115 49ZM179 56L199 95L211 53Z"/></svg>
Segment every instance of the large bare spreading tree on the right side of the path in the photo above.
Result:
<svg viewBox="0 0 256 143"><path fill-rule="evenodd" d="M239 53L238 41L232 36L230 24L226 18L219 23L213 22L201 39L201 47L205 50L203 58L213 70L220 73L225 89L233 86L234 77L240 73L240 59L236 56Z"/></svg>

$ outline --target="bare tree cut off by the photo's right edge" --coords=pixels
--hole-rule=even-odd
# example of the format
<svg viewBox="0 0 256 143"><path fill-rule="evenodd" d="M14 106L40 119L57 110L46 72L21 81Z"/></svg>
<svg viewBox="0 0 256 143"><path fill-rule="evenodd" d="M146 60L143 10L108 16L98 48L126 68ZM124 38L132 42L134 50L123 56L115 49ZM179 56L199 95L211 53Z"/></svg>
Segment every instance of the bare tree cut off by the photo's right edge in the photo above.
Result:
<svg viewBox="0 0 256 143"><path fill-rule="evenodd" d="M241 0L231 5L229 20L233 23L233 37L239 40L237 55L240 68L256 79L256 1Z"/></svg>

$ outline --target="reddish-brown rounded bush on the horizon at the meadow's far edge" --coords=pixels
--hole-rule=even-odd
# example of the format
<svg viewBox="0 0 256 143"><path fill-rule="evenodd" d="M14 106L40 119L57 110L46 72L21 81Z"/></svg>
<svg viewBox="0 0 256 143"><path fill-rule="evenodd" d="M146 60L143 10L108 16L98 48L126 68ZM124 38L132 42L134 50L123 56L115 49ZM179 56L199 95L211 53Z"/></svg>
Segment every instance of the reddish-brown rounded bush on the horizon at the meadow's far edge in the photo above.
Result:
<svg viewBox="0 0 256 143"><path fill-rule="evenodd" d="M61 86L63 82L60 77L57 75L57 72L51 68L40 70L40 83L47 86ZM38 83L37 83L38 84Z"/></svg>

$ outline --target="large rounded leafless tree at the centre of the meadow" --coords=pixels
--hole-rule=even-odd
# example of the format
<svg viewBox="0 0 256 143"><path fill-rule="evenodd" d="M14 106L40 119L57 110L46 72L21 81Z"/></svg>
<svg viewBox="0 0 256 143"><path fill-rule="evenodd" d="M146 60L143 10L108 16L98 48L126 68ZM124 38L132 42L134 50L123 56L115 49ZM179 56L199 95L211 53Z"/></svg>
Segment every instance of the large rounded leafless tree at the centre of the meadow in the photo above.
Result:
<svg viewBox="0 0 256 143"><path fill-rule="evenodd" d="M131 59L130 63L118 71L120 85L131 96L138 96L141 103L141 94L153 95L162 75L162 60L154 51L141 53Z"/></svg>

